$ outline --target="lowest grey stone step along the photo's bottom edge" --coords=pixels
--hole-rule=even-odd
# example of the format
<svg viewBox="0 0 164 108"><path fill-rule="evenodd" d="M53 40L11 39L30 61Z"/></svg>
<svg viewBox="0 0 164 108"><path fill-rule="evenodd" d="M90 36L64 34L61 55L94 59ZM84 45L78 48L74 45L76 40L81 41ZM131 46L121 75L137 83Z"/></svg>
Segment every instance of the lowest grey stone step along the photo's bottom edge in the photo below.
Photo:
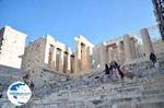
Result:
<svg viewBox="0 0 164 108"><path fill-rule="evenodd" d="M35 108L163 108L163 100L154 101L131 101L130 98L125 98L124 103L110 103L110 100L95 99L90 101L77 100L69 101L67 99L61 101L33 104ZM121 101L121 100L120 100Z"/></svg>

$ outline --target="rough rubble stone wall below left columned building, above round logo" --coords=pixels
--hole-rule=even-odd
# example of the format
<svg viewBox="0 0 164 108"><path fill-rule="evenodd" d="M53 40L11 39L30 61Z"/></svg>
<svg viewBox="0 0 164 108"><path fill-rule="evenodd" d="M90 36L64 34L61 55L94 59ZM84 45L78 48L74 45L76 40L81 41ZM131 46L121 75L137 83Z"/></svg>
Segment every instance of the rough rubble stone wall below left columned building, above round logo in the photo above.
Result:
<svg viewBox="0 0 164 108"><path fill-rule="evenodd" d="M69 76L56 71L44 69L43 67L34 67L24 73L27 75L27 82L34 82L37 93L39 89L50 87L50 85L58 84L61 81L66 81ZM23 76L22 76L23 77ZM37 94L36 93L36 94Z"/></svg>

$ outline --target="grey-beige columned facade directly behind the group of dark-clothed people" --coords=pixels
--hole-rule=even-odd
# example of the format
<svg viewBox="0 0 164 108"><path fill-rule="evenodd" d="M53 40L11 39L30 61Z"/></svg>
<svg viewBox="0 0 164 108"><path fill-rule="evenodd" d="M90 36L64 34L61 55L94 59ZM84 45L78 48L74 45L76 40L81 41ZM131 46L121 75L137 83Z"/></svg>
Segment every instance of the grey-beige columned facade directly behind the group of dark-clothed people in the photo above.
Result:
<svg viewBox="0 0 164 108"><path fill-rule="evenodd" d="M138 40L125 35L119 39L107 40L94 48L94 68L104 68L104 64L117 61L119 64L137 59Z"/></svg>

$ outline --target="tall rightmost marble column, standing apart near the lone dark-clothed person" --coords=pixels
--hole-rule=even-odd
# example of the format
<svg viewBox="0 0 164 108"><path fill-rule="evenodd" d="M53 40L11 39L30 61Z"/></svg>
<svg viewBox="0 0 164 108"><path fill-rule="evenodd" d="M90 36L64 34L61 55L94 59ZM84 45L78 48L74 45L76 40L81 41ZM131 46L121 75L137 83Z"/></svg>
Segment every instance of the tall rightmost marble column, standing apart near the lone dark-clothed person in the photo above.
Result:
<svg viewBox="0 0 164 108"><path fill-rule="evenodd" d="M151 52L154 52L153 45L151 43L151 38L148 32L148 28L142 28L140 31L143 41L143 51L145 53L145 57L149 57Z"/></svg>

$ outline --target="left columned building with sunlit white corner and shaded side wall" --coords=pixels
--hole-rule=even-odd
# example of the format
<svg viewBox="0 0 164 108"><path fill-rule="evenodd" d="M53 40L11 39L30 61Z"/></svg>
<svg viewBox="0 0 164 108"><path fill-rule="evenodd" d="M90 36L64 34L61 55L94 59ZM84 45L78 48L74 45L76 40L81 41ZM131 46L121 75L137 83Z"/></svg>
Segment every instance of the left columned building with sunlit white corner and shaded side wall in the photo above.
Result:
<svg viewBox="0 0 164 108"><path fill-rule="evenodd" d="M73 55L65 44L56 41L52 36L46 35L30 44L25 48L22 69L31 70L40 67L63 73L73 72L71 61Z"/></svg>

